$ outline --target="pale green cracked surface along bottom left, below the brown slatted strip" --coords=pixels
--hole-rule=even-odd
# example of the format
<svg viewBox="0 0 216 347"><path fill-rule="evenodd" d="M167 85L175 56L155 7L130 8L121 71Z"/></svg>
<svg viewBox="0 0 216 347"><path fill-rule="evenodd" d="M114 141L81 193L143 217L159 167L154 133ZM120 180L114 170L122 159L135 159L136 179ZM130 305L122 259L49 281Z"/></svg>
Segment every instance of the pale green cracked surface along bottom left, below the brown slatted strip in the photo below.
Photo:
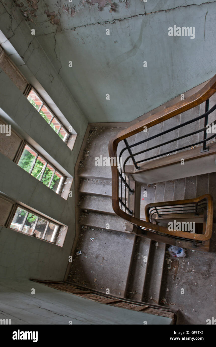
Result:
<svg viewBox="0 0 216 347"><path fill-rule="evenodd" d="M35 288L35 295L31 294ZM31 325L171 324L168 317L111 307L28 280L0 279L0 319ZM7 329L7 328L5 328Z"/></svg>

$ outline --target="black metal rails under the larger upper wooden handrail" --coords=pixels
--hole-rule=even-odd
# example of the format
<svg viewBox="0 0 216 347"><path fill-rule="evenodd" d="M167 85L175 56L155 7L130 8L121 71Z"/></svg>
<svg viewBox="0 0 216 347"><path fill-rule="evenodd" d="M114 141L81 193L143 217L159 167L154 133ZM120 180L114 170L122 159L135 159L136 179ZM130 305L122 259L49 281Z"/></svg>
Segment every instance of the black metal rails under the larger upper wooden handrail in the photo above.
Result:
<svg viewBox="0 0 216 347"><path fill-rule="evenodd" d="M198 116L198 117L195 117L191 120L188 120L186 122L183 122L182 124L179 124L177 126L174 126L168 130L164 130L162 131L161 133L159 134L155 134L151 137L148 137L142 141L138 141L132 145L129 145L127 140L124 139L124 143L125 143L125 147L120 151L120 154L118 156L119 158L119 162L121 162L121 158L122 158L122 155L125 151L128 151L129 155L127 156L127 158L124 160L124 163L123 165L121 164L121 167L119 169L119 180L120 180L120 197L119 197L119 205L120 205L120 208L121 210L124 210L126 213L129 213L129 214L133 214L133 211L130 210L130 205L129 205L129 196L130 194L133 194L133 189L130 187L130 180L129 180L129 175L127 175L126 177L126 173L125 173L125 166L126 164L128 163L128 161L131 159L132 162L133 162L133 165L135 167L136 170L139 170L139 166L138 164L140 163L144 163L146 161L150 161L152 159L156 159L156 158L160 158L162 156L165 156L165 155L170 155L171 153L175 153L175 152L178 152L178 151L182 151L182 150L186 150L188 148L193 148L194 146L199 146L199 145L202 145L201 146L201 152L203 151L208 151L208 147L206 146L206 143L213 139L214 137L216 137L216 134L213 133L211 134L209 137L207 137L207 125L208 125L208 115L210 113L212 113L214 110L216 110L216 104L209 110L209 99L206 100L205 102L205 113L203 113L202 115ZM170 139L168 141L165 141L163 143L160 143L160 144L157 144L155 146L148 146L147 148L145 148L144 150L141 150L141 151L134 151L134 153L132 153L132 149L136 146L139 146L141 144L145 144L146 142L149 142L151 141L152 139L155 139L157 137L160 137L162 135L165 135L165 134L169 134L171 132L173 132L174 130L177 130L177 129L180 129L182 127L186 127L188 126L189 124L192 124L192 123L195 123L197 121L199 121L200 119L203 119L204 118L204 127L202 127L201 129L196 129L194 130L193 132L190 132L190 133L187 133L186 135L181 135L181 136L178 136L178 137L175 137L173 139ZM213 124L215 125L216 124L216 120L213 122ZM195 124L195 127L197 125ZM199 126L198 126L199 127ZM150 152L154 149L157 149L157 148L161 148L165 145L168 145L168 144L172 144L174 142L177 142L181 139L184 139L184 138L190 138L192 137L193 135L196 135L196 134L199 134L199 133L202 133L203 132L203 139L200 140L200 141L193 141L193 139L191 138L191 142L187 145L184 145L184 146L181 146L179 148L175 148L173 150L169 150L169 151L165 151L163 153L160 153L160 154L156 154L156 155L152 155L146 159L141 159L141 160L138 160L136 159L136 156L137 155L140 155L140 154L144 154L146 152ZM178 142L177 142L178 144ZM178 145L177 145L178 147Z"/></svg>

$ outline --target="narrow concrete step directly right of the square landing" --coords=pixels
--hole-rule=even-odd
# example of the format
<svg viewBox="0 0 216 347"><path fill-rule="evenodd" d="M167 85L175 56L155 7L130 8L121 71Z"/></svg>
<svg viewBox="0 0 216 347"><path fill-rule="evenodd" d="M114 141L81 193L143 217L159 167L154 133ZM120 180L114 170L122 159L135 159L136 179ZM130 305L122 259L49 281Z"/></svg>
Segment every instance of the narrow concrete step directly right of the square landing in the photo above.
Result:
<svg viewBox="0 0 216 347"><path fill-rule="evenodd" d="M151 240L136 237L128 273L126 298L142 301ZM144 262L146 257L146 262Z"/></svg>

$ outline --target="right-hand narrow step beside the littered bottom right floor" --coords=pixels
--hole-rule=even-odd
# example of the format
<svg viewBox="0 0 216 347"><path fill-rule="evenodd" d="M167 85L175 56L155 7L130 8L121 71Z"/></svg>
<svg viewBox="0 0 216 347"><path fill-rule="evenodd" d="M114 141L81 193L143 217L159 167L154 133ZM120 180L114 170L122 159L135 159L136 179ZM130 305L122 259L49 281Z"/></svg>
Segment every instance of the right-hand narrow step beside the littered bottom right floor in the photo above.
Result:
<svg viewBox="0 0 216 347"><path fill-rule="evenodd" d="M143 301L158 304L160 300L165 243L152 241L143 288Z"/></svg>

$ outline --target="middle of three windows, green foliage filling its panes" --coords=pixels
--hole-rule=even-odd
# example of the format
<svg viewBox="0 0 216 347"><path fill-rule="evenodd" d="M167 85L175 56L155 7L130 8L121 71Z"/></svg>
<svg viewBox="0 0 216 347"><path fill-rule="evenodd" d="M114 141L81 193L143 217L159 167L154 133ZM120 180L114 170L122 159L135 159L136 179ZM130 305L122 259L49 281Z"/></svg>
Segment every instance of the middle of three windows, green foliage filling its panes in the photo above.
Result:
<svg viewBox="0 0 216 347"><path fill-rule="evenodd" d="M64 176L28 144L25 145L18 166L52 189L56 194L60 193Z"/></svg>

